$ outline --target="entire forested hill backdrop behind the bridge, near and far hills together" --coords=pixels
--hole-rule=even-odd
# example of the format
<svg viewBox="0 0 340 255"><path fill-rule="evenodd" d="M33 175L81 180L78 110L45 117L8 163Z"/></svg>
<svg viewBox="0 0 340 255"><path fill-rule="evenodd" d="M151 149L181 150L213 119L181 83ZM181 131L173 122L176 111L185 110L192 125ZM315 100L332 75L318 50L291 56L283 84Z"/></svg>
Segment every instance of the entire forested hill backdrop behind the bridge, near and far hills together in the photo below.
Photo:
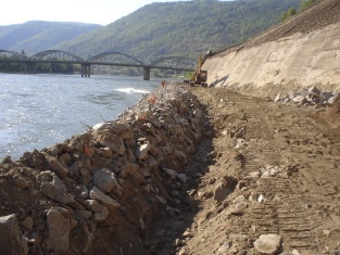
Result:
<svg viewBox="0 0 340 255"><path fill-rule="evenodd" d="M301 0L193 0L148 4L108 26L27 22L0 26L0 49L32 55L59 49L88 58L117 51L152 61L165 55L197 59L243 42L280 22ZM114 12L114 10L112 10Z"/></svg>

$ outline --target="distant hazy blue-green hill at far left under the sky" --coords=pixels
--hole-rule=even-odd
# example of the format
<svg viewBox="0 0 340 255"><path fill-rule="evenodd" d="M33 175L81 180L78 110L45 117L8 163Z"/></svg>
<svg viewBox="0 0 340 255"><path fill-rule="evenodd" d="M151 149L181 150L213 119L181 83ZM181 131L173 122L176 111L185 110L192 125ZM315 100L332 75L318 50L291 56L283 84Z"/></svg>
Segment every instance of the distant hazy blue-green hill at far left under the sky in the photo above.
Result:
<svg viewBox="0 0 340 255"><path fill-rule="evenodd" d="M100 27L95 24L42 21L0 26L0 49L18 52L24 50L30 55Z"/></svg>

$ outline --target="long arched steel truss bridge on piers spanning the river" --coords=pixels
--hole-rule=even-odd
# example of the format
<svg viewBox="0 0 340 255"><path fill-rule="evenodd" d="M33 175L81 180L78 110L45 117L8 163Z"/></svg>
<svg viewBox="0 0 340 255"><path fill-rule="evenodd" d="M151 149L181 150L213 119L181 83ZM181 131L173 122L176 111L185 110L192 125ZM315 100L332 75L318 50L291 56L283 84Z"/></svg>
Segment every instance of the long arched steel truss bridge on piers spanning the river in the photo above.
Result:
<svg viewBox="0 0 340 255"><path fill-rule="evenodd" d="M91 65L112 65L143 68L143 79L150 80L152 68L173 71L194 71L194 61L182 56L165 56L151 63L144 63L134 56L121 52L102 52L87 60L73 53L60 50L46 50L32 56L15 51L0 50L0 62L23 63L25 73L35 74L40 63L80 64L81 77L91 76Z"/></svg>

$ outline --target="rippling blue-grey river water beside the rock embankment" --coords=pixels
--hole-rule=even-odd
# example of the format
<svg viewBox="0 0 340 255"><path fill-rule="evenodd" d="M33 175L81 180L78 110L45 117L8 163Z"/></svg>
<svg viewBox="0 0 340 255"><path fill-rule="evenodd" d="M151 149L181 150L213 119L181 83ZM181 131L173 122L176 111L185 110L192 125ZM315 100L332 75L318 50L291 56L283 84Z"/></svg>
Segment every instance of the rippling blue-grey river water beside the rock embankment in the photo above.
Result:
<svg viewBox="0 0 340 255"><path fill-rule="evenodd" d="M141 77L0 74L0 160L17 160L86 131L85 125L114 120L160 84Z"/></svg>

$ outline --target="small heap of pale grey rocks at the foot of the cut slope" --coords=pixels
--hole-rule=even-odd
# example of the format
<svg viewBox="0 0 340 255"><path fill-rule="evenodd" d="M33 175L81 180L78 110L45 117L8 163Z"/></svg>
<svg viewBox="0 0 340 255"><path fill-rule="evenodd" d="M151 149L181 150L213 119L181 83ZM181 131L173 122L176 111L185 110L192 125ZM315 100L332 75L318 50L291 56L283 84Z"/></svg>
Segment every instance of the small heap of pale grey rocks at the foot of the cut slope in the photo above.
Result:
<svg viewBox="0 0 340 255"><path fill-rule="evenodd" d="M297 91L278 93L274 100L276 103L293 103L303 105L329 106L340 98L340 93L319 90L316 87L302 88Z"/></svg>

